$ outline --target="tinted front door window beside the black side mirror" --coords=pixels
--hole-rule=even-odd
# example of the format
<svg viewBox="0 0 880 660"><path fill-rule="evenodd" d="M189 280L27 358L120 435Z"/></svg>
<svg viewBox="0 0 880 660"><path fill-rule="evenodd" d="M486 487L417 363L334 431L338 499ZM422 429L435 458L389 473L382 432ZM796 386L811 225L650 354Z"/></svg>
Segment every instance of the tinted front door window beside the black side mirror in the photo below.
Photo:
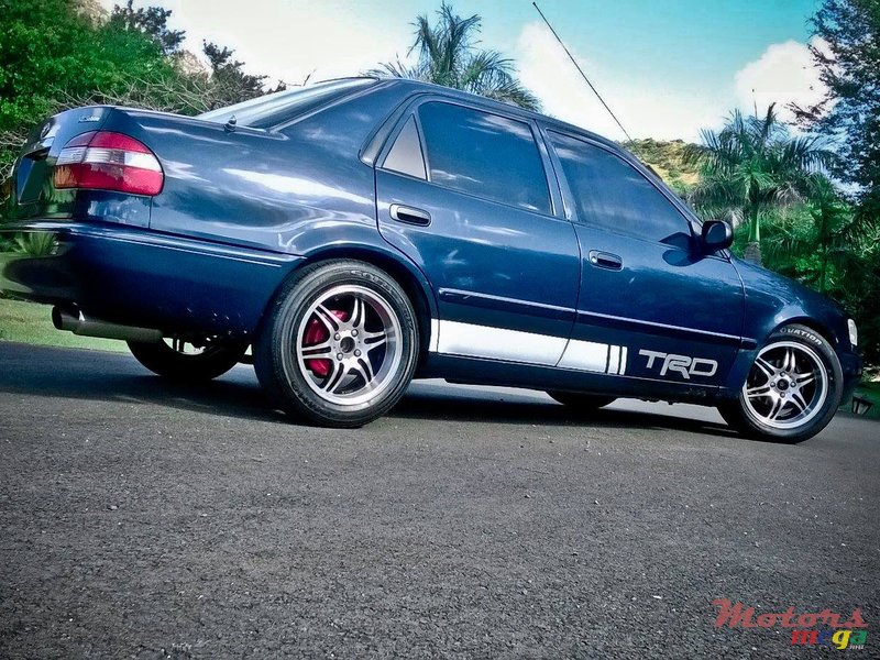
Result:
<svg viewBox="0 0 880 660"><path fill-rule="evenodd" d="M684 217L629 163L588 142L549 134L581 221L651 241L690 235Z"/></svg>

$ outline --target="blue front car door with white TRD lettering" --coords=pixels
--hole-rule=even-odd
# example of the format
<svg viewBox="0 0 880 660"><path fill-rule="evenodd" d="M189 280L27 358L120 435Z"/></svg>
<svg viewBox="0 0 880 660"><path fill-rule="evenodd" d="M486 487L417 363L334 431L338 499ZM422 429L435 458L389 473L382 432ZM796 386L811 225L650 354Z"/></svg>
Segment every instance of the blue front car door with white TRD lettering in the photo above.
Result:
<svg viewBox="0 0 880 660"><path fill-rule="evenodd" d="M696 220L613 148L548 130L583 268L561 366L607 354L606 373L690 386L723 382L740 344L743 283L705 254ZM608 344L607 352L595 345Z"/></svg>

